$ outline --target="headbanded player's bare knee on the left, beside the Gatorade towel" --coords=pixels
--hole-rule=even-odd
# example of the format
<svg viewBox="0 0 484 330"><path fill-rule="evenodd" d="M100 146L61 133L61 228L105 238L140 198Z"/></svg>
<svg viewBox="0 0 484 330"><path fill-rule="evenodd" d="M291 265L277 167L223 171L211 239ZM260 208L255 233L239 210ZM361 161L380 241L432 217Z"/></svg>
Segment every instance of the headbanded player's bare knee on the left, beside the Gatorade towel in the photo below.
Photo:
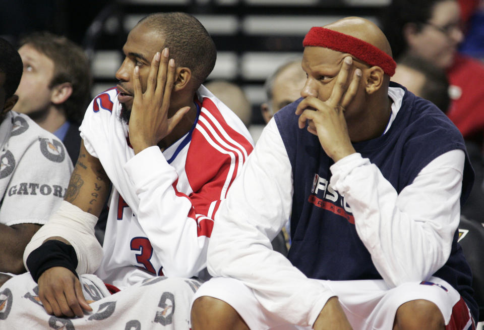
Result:
<svg viewBox="0 0 484 330"><path fill-rule="evenodd" d="M249 330L240 315L226 302L202 296L197 298L192 307L193 330Z"/></svg>

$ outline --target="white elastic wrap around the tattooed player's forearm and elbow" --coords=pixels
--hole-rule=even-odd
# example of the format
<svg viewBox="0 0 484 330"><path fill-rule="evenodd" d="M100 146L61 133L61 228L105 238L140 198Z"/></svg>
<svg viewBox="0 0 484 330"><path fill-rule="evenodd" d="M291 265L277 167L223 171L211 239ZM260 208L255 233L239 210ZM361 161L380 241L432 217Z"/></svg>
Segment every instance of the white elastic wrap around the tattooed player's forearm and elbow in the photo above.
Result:
<svg viewBox="0 0 484 330"><path fill-rule="evenodd" d="M76 250L77 268L79 275L93 273L101 263L102 247L94 235L97 217L84 212L79 207L63 201L61 206L52 214L47 224L42 226L32 237L24 251L24 265L29 254L42 243L54 236L66 239Z"/></svg>

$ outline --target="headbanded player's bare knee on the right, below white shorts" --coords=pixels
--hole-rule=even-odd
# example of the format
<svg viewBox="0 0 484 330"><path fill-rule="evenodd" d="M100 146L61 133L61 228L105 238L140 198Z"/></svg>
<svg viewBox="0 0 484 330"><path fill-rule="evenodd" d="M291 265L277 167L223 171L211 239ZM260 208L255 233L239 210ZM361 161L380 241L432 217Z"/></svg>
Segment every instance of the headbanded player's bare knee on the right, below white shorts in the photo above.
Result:
<svg viewBox="0 0 484 330"><path fill-rule="evenodd" d="M398 307L393 330L443 330L445 321L442 313L431 301L418 299Z"/></svg>

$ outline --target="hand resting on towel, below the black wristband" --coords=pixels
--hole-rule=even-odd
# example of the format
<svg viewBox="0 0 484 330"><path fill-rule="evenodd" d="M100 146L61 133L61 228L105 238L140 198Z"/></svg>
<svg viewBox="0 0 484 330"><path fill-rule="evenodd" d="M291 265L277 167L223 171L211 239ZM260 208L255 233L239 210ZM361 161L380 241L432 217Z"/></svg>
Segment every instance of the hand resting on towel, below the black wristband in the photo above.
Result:
<svg viewBox="0 0 484 330"><path fill-rule="evenodd" d="M81 283L64 267L45 270L38 280L39 298L45 311L57 317L82 317L83 310L92 311L84 298Z"/></svg>

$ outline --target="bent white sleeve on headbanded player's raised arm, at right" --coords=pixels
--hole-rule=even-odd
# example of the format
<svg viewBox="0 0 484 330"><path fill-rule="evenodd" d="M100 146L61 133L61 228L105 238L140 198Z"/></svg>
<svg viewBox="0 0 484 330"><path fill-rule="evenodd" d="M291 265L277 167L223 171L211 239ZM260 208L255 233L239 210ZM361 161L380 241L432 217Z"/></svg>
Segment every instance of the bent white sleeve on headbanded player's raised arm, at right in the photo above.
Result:
<svg viewBox="0 0 484 330"><path fill-rule="evenodd" d="M442 154L400 194L359 153L331 167L330 184L345 196L358 236L390 287L426 280L449 258L459 225L464 160L462 150Z"/></svg>

